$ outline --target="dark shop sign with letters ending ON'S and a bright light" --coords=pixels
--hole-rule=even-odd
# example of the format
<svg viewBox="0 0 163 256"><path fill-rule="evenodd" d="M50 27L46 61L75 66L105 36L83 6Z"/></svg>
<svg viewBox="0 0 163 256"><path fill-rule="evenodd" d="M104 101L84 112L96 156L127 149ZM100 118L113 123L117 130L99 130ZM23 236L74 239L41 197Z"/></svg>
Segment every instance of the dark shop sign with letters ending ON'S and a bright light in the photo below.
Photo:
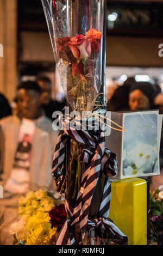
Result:
<svg viewBox="0 0 163 256"><path fill-rule="evenodd" d="M107 17L110 34L160 35L160 32L163 34L162 3L108 1Z"/></svg>

